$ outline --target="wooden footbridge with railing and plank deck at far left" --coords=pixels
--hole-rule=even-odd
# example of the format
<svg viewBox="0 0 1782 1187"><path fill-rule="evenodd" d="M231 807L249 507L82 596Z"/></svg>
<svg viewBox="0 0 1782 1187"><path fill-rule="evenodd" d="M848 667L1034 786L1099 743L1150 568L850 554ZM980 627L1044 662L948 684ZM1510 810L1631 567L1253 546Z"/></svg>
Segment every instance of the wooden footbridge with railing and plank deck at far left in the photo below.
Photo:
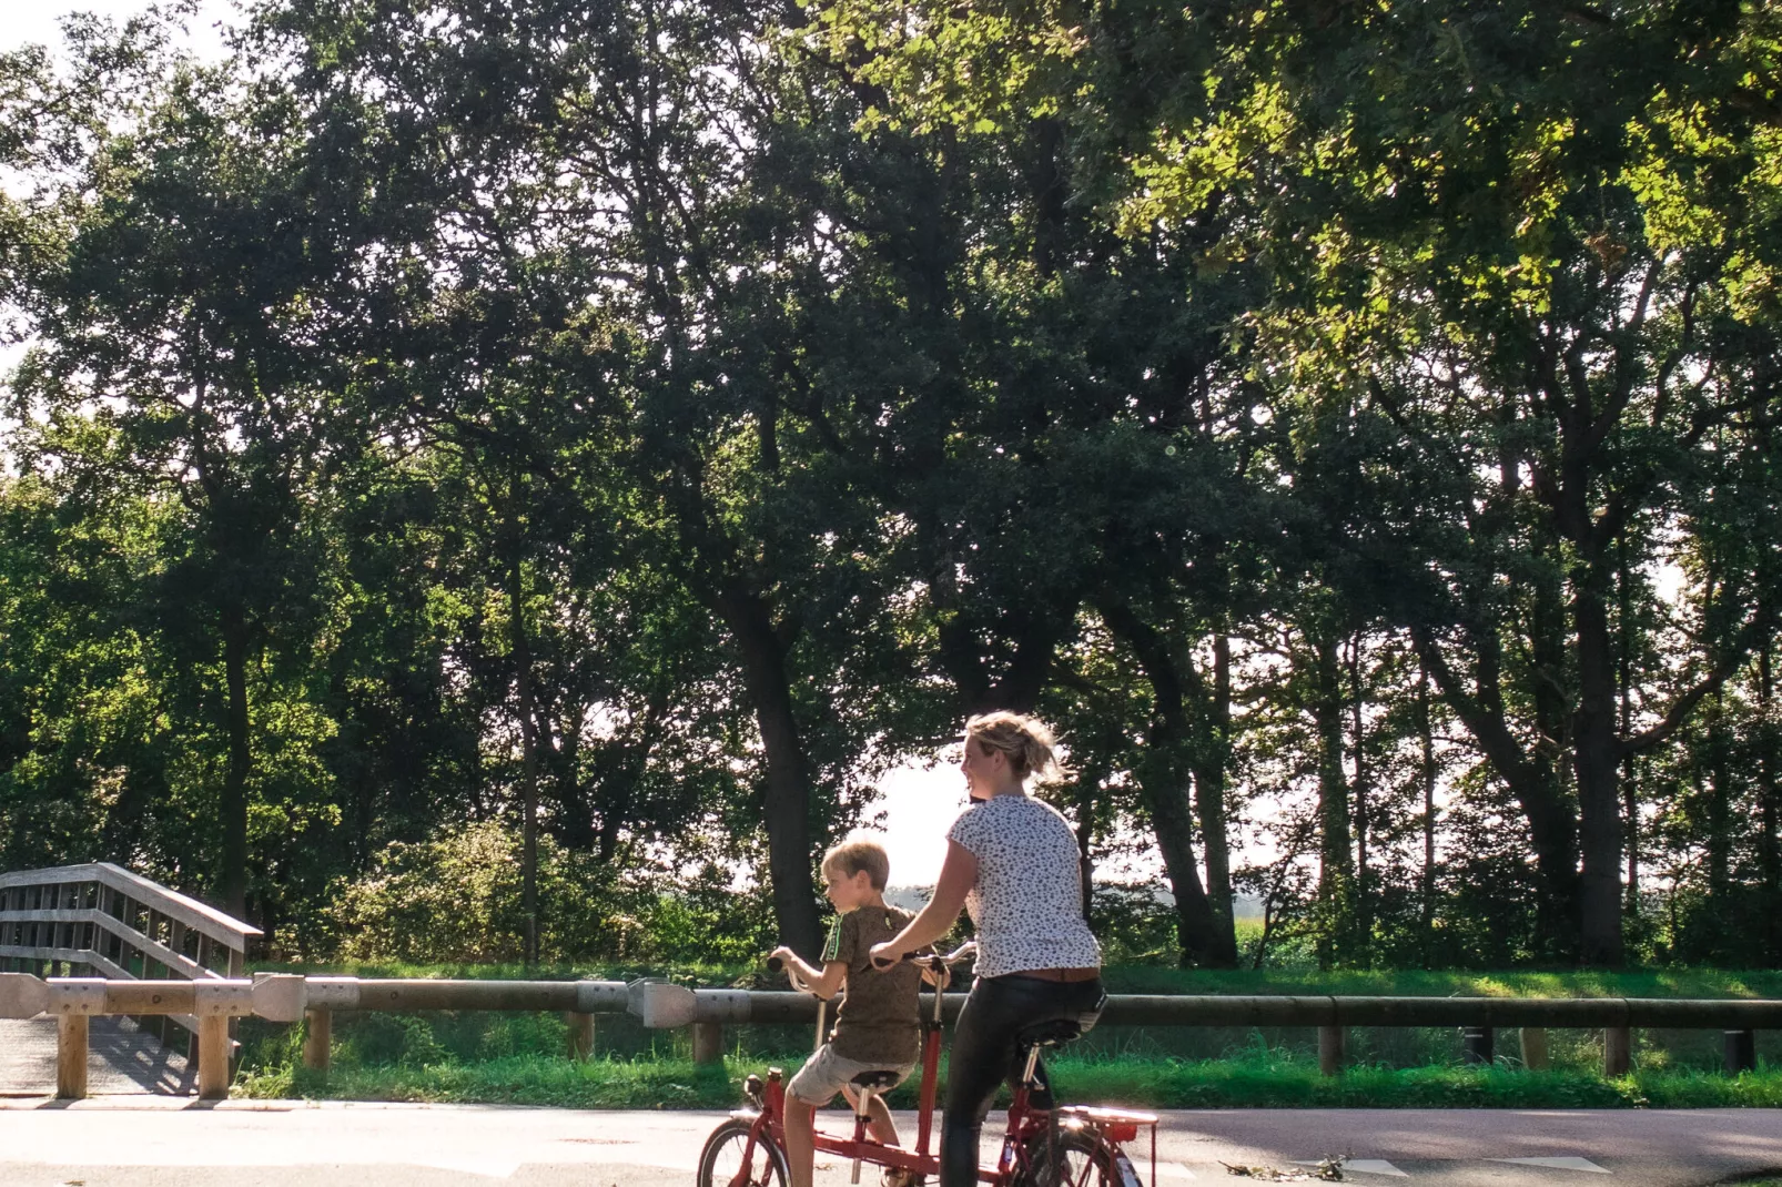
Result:
<svg viewBox="0 0 1782 1187"><path fill-rule="evenodd" d="M110 863L0 873L0 971L107 980L228 980L258 929ZM87 1027L82 1068L59 1030ZM0 1094L176 1093L198 1084L192 1014L0 1019ZM225 1075L226 1082L226 1075Z"/></svg>

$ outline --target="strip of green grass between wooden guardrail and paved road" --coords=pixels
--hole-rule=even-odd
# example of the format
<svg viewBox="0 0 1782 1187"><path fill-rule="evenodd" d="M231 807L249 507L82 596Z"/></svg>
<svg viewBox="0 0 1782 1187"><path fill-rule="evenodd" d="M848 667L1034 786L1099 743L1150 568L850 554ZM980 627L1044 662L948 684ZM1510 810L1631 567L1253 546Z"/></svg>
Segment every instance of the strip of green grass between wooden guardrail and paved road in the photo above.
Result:
<svg viewBox="0 0 1782 1187"><path fill-rule="evenodd" d="M731 1109L741 1078L766 1060L695 1066L688 1060L570 1062L511 1055L478 1062L301 1068L244 1073L248 1098L390 1100L554 1105L567 1109ZM797 1059L788 1060L788 1071ZM1053 1062L1066 1100L1146 1109L1775 1109L1782 1071L1723 1076L1641 1071L1614 1080L1577 1071L1504 1068L1351 1068L1340 1078L1297 1060L1117 1059ZM916 1085L891 1105L912 1109Z"/></svg>

